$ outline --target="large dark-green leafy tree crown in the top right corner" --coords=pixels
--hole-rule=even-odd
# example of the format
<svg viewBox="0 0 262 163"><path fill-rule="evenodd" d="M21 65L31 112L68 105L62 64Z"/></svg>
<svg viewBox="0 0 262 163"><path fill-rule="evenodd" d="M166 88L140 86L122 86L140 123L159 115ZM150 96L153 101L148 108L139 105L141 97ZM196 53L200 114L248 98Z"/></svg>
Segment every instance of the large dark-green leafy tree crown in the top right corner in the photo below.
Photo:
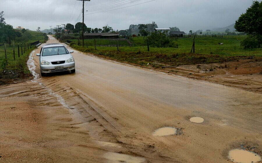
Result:
<svg viewBox="0 0 262 163"><path fill-rule="evenodd" d="M238 32L262 35L262 1L253 1L246 13L240 15L234 27Z"/></svg>

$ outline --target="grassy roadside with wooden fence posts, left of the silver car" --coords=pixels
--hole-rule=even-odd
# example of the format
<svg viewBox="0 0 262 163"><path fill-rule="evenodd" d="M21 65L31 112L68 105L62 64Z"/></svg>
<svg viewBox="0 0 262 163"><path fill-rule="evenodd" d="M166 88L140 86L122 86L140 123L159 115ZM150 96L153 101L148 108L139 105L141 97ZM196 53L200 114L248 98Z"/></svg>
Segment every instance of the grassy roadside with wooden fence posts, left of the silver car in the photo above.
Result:
<svg viewBox="0 0 262 163"><path fill-rule="evenodd" d="M3 63L5 62L5 50L4 45L0 46L0 84L10 83L12 81L21 80L22 78L29 78L31 77L30 71L27 67L27 60L29 57L29 54L35 49L35 46L31 46L31 48L26 47L26 50L24 52L24 42L25 43L31 43L40 40L40 42L45 42L46 40L43 40L43 33L30 31L32 34L32 38L29 40L21 42L15 42L15 60L13 57L13 44L9 46L6 44L6 54L7 54L7 61L8 64L3 66ZM23 45L23 55L21 52L21 43ZM19 44L19 52L20 57L18 57L18 44Z"/></svg>

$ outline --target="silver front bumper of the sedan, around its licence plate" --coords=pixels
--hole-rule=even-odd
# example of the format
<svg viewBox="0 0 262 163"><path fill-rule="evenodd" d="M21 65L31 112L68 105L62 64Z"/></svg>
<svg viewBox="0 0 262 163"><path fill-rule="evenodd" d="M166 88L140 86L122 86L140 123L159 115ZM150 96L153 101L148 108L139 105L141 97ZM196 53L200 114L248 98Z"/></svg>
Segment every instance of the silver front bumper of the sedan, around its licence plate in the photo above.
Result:
<svg viewBox="0 0 262 163"><path fill-rule="evenodd" d="M56 66L64 66L63 69L60 70L55 70ZM75 62L70 62L70 63L63 63L63 64L57 64L57 65L41 65L41 72L42 73L51 73L51 72L61 72L61 71L69 71L69 70L74 70L75 69Z"/></svg>

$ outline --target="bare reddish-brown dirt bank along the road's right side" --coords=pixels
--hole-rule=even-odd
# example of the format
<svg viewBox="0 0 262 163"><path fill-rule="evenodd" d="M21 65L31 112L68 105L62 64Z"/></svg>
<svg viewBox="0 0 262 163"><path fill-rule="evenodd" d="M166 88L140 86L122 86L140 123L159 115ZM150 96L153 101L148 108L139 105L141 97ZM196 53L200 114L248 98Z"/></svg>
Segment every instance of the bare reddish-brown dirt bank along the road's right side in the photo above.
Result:
<svg viewBox="0 0 262 163"><path fill-rule="evenodd" d="M158 68L169 74L262 93L262 58Z"/></svg>

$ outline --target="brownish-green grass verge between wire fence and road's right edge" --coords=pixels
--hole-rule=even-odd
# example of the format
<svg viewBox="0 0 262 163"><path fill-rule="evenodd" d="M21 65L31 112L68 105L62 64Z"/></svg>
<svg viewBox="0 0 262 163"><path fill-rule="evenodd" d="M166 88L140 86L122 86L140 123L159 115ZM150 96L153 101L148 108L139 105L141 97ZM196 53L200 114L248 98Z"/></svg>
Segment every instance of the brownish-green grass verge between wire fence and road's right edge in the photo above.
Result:
<svg viewBox="0 0 262 163"><path fill-rule="evenodd" d="M92 53L107 59L141 66L159 68L161 66L178 66L191 64L222 63L225 61L247 59L249 56L224 56L215 54L190 54L172 51L160 52L162 48L151 48L150 52L140 47L125 47L118 52L115 47L82 47L71 43L70 46L82 52ZM152 50L153 49L153 50ZM165 48L163 48L165 49Z"/></svg>

